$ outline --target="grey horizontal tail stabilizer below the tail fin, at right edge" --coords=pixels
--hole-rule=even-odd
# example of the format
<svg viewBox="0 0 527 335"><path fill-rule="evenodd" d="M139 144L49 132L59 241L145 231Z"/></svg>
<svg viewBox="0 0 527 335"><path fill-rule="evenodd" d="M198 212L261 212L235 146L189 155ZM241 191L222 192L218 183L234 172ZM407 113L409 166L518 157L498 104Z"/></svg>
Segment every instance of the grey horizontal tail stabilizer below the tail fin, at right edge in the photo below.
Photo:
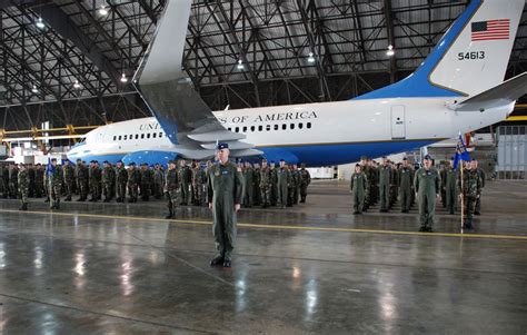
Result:
<svg viewBox="0 0 527 335"><path fill-rule="evenodd" d="M527 93L527 72L456 105L458 111L481 110L516 101Z"/></svg>

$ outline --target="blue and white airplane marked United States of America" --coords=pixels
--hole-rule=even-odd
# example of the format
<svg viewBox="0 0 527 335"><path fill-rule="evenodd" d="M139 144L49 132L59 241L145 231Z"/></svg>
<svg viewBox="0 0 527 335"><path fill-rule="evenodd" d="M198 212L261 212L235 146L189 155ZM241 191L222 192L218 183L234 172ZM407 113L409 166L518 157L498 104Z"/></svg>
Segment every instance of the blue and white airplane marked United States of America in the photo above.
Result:
<svg viewBox="0 0 527 335"><path fill-rule="evenodd" d="M474 0L407 78L346 101L211 111L181 69L191 0L167 2L135 75L153 117L87 134L71 161L149 165L232 157L308 167L431 145L499 122L527 93L527 72L504 82L525 0Z"/></svg>

